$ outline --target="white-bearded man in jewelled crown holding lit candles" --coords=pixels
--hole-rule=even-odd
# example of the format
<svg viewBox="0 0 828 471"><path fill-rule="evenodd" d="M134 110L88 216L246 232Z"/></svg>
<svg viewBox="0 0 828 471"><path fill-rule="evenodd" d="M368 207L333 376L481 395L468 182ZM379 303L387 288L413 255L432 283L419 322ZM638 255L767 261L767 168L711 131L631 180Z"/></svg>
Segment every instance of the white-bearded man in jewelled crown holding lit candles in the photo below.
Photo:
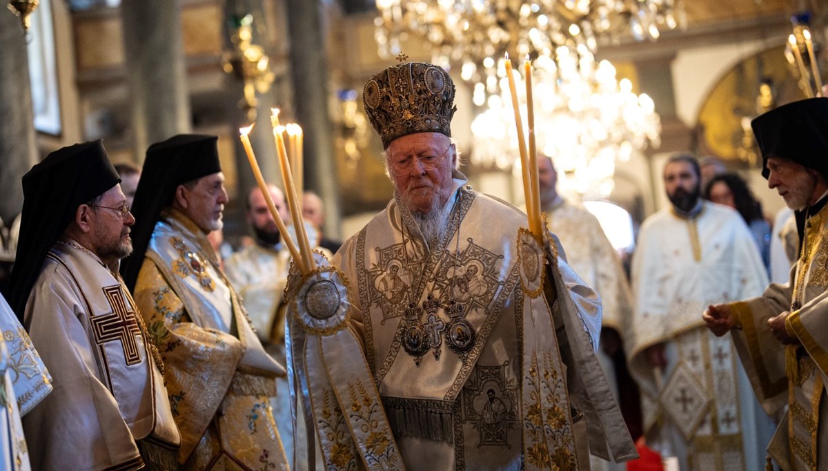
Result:
<svg viewBox="0 0 828 471"><path fill-rule="evenodd" d="M365 85L395 194L332 260L349 282L356 350L330 350L345 345L335 329L302 332L323 360L306 350L326 464L575 470L590 468L590 451L631 459L595 357L599 299L554 236L540 243L520 230L522 212L467 185L450 139L454 95L445 70L420 62ZM323 318L327 298L311 303L310 289L299 290L300 315ZM320 375L339 379L320 391ZM359 456L336 438L344 422Z"/></svg>

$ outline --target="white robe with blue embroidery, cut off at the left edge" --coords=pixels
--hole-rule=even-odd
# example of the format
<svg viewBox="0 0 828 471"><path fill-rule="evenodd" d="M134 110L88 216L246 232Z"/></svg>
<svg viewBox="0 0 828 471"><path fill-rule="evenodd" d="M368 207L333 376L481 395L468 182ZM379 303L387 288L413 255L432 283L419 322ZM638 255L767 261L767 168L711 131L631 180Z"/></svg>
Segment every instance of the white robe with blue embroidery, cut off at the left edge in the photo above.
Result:
<svg viewBox="0 0 828 471"><path fill-rule="evenodd" d="M21 416L51 393L51 376L0 295L0 469L31 469Z"/></svg>

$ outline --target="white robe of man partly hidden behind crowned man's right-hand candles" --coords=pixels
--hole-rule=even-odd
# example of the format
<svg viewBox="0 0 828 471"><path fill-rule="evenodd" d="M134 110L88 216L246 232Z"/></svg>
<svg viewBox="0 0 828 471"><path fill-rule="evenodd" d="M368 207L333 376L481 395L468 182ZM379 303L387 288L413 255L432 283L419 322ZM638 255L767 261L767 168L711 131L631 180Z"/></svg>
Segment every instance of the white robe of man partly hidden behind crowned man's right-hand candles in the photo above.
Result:
<svg viewBox="0 0 828 471"><path fill-rule="evenodd" d="M561 239L561 245L566 250L566 263L601 297L601 325L623 333L626 329L622 325L628 323L633 315L633 294L621 260L598 218L586 208L566 202L561 197L544 207L543 211L549 215L546 219L549 230ZM596 353L618 399L612 358L601 348ZM593 469L609 471L626 468L624 464L607 463L600 459L592 459L592 462Z"/></svg>

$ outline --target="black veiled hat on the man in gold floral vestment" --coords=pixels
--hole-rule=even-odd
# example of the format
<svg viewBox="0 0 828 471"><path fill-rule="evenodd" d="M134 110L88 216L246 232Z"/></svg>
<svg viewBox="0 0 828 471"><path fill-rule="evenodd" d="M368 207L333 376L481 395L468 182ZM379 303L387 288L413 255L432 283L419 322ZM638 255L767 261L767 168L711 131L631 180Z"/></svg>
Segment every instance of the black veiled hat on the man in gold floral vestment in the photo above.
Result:
<svg viewBox="0 0 828 471"><path fill-rule="evenodd" d="M152 231L161 210L172 204L176 188L182 183L221 172L217 136L179 134L154 143L147 149L147 159L132 203L132 255L123 260L123 281L132 291L144 261Z"/></svg>

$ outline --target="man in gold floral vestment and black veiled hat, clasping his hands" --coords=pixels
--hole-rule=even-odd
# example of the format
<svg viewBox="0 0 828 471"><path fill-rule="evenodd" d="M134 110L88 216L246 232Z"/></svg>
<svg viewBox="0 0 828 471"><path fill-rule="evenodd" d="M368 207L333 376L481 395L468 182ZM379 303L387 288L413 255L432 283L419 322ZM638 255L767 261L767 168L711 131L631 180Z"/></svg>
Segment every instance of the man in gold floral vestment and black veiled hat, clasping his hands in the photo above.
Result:
<svg viewBox="0 0 828 471"><path fill-rule="evenodd" d="M181 468L287 469L272 414L285 371L207 240L228 202L217 141L180 134L147 149L124 279L164 357Z"/></svg>

